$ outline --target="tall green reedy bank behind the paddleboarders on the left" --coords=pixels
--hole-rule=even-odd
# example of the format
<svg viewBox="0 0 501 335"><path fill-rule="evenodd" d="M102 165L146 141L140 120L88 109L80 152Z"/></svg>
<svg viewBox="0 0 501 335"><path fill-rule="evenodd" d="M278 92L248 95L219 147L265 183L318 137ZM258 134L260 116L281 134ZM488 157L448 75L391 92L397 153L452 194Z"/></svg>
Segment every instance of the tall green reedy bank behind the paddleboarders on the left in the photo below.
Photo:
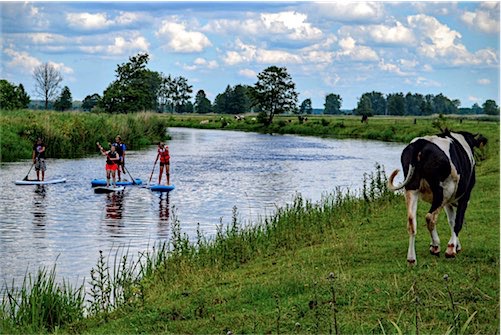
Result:
<svg viewBox="0 0 501 335"><path fill-rule="evenodd" d="M129 149L164 140L166 123L154 113L128 115L54 111L0 111L0 161L31 158L37 137L51 158L83 157L120 134Z"/></svg>

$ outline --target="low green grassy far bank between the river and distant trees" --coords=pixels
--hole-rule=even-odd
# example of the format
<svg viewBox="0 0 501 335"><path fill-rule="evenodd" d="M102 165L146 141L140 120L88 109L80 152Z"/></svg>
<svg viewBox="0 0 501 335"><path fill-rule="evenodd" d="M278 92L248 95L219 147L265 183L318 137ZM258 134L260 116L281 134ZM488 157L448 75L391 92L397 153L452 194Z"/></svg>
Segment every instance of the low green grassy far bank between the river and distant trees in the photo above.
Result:
<svg viewBox="0 0 501 335"><path fill-rule="evenodd" d="M377 141L407 143L416 136L439 132L439 127L480 131L485 125L498 127L499 118L493 117L385 117L369 118L360 122L358 116L313 115L300 123L292 115L276 116L269 127L257 123L255 117L236 120L231 115L169 115L165 116L170 127L202 129L227 129L273 134L295 134L335 138L358 138Z"/></svg>

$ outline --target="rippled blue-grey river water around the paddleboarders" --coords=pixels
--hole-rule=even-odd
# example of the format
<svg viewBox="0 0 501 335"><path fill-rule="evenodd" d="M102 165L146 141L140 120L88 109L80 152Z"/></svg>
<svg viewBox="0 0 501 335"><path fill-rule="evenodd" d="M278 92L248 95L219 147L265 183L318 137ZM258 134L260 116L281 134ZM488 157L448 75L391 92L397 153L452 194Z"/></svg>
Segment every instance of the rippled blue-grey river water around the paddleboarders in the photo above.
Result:
<svg viewBox="0 0 501 335"><path fill-rule="evenodd" d="M297 193L318 201L336 188L359 190L375 164L400 167L402 144L300 136L169 128L170 194L131 186L95 194L90 181L103 178L98 153L82 159L47 159L46 179L64 184L17 186L31 161L0 165L0 284L21 284L25 274L56 264L58 278L90 278L99 251L126 247L131 255L169 239L171 222L193 241L197 226L213 236L229 224L233 207L243 224L258 222ZM126 167L147 182L156 146L129 151ZM30 178L34 178L32 170ZM127 176L129 179L130 177ZM165 177L165 176L164 176ZM158 164L153 182L158 178Z"/></svg>

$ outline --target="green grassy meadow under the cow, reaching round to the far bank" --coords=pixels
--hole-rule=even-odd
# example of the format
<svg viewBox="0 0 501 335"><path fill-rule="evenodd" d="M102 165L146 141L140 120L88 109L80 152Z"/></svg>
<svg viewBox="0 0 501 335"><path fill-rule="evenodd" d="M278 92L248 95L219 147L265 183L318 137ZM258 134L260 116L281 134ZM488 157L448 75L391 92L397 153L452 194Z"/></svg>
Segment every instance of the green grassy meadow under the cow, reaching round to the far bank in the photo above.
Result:
<svg viewBox="0 0 501 335"><path fill-rule="evenodd" d="M188 122L176 120L186 116L163 117L168 126ZM207 126L199 121L189 120ZM285 123L276 127L294 127L286 118L276 121ZM317 121L322 125L322 118L307 123ZM368 138L394 127L388 140L405 142L447 126L489 139L487 149L477 153L477 184L460 234L463 251L455 259L429 254L424 221L429 205L420 202L417 265L407 265L404 198L386 188L391 171L375 167L361 190L332 190L317 203L298 195L253 225L240 222L235 208L230 225L221 225L213 239L200 233L195 244L183 234L182 218L174 211L172 238L165 244L140 255L126 250L99 255L85 296L78 288L54 283L51 271L8 290L0 332L499 333L499 122L327 121L330 127L323 127L340 128L336 131L347 133L339 136L346 137ZM221 127L217 122L220 118L209 124ZM335 127L340 123L344 127ZM223 128L231 129L230 124ZM330 131L316 135L336 136ZM444 213L438 232L446 243L450 229Z"/></svg>

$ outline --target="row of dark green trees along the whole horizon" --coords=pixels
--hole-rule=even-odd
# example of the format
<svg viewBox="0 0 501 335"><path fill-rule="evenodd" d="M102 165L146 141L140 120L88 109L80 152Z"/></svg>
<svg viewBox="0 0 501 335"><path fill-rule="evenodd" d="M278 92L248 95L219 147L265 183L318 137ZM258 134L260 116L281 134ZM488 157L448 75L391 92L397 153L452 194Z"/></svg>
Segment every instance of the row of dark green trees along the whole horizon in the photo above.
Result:
<svg viewBox="0 0 501 335"><path fill-rule="evenodd" d="M251 85L228 85L218 94L214 102L207 98L204 90L191 101L193 87L183 76L172 77L147 68L149 55L139 53L129 61L117 65L116 78L104 90L102 96L94 93L85 97L81 108L84 111L107 113L130 113L157 111L161 113L258 113L258 120L270 124L273 117L282 113L294 113L299 117L313 113L312 102L307 98L298 104L295 83L285 67L270 66L257 75L257 82ZM70 89L59 90L63 78L50 63L44 63L33 72L35 91L43 97L45 109L68 110L72 108ZM342 97L330 93L325 97L324 114L346 114L342 110ZM26 108L30 97L22 85L15 86L0 80L0 108ZM494 100L486 100L479 106L459 108L460 101L451 100L443 94L422 95L418 93L367 92L358 100L357 107L349 114L355 115L415 115L432 114L490 114L499 115Z"/></svg>

